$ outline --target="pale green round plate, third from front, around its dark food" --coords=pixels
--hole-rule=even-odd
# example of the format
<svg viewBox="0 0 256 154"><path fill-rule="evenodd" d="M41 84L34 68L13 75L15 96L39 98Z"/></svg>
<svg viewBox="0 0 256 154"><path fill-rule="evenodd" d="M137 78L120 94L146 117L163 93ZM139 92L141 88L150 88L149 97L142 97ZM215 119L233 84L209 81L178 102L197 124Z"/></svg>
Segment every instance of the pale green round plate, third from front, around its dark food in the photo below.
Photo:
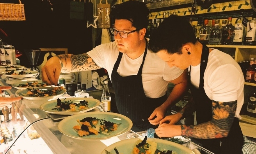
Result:
<svg viewBox="0 0 256 154"><path fill-rule="evenodd" d="M60 99L62 102L64 101L64 98ZM52 100L52 101L48 101L46 103L43 103L42 105L40 105L41 110L44 110L45 112L51 113L51 114L59 114L59 115L73 115L73 114L79 114L79 113L84 113L87 112L89 110L92 110L94 108L96 108L98 105L100 105L100 101L96 100L94 98L66 98L65 101L73 101L74 103L80 103L80 101L82 100L86 100L88 101L88 106L89 108L86 109L78 109L78 107L76 107L76 111L71 111L71 110L66 110L66 111L56 111L56 110L52 110L52 108L55 108L57 105L57 100Z"/></svg>

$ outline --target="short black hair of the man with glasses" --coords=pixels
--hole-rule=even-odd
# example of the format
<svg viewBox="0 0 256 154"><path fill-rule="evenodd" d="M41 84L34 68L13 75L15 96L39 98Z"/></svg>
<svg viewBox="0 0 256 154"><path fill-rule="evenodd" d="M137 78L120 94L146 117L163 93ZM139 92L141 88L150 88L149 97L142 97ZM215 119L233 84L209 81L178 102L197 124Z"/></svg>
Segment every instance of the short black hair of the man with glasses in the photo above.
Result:
<svg viewBox="0 0 256 154"><path fill-rule="evenodd" d="M137 0L129 0L121 4L113 5L110 10L111 20L127 19L132 21L132 26L135 28L147 28L148 15L149 9L146 3Z"/></svg>

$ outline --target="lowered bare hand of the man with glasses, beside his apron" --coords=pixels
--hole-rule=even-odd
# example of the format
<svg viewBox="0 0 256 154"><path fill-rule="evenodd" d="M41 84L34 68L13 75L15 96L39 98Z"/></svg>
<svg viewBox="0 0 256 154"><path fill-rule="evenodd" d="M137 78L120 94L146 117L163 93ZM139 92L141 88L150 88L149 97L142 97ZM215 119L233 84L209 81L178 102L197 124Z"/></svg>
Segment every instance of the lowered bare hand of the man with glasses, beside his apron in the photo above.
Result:
<svg viewBox="0 0 256 154"><path fill-rule="evenodd" d="M160 120L164 118L166 107L159 106L149 116L148 121L153 125L158 125ZM155 118L156 117L156 118ZM155 119L154 119L155 118Z"/></svg>

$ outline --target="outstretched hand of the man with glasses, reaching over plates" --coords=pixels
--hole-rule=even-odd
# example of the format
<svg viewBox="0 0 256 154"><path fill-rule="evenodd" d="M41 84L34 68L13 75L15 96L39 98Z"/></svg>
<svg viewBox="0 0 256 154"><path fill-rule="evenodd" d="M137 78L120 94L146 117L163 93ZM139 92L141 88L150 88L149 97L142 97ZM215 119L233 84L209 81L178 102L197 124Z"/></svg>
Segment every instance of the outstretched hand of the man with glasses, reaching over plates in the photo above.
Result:
<svg viewBox="0 0 256 154"><path fill-rule="evenodd" d="M57 86L60 77L60 59L56 56L50 58L42 67L42 80L46 84Z"/></svg>

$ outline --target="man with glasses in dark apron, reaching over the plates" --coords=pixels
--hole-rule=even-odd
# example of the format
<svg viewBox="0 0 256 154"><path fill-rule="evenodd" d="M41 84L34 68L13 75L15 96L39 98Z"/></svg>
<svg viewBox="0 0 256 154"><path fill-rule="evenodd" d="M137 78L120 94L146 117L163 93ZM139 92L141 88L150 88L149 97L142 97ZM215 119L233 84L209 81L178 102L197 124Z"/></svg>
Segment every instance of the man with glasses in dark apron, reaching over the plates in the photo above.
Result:
<svg viewBox="0 0 256 154"><path fill-rule="evenodd" d="M86 54L62 54L50 58L42 68L42 80L57 85L59 73L105 68L116 94L120 114L133 121L135 131L153 128L163 119L167 107L174 105L187 87L187 72L170 68L148 51L145 38L149 9L131 0L114 5L111 32L114 42L101 44ZM93 66L93 67L92 67ZM168 83L175 84L167 98ZM151 122L151 125L149 122Z"/></svg>

